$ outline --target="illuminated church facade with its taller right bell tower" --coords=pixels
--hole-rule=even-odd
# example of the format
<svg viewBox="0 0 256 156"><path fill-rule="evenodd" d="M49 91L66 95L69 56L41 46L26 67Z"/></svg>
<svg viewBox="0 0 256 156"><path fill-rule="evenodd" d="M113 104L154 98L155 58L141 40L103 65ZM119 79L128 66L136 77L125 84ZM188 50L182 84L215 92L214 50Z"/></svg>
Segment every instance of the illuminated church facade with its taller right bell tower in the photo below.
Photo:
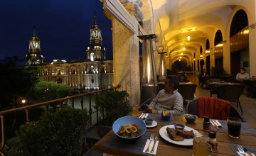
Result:
<svg viewBox="0 0 256 156"><path fill-rule="evenodd" d="M43 61L41 64L29 64L26 61L26 65L39 65L41 67L39 75L43 81L67 84L75 90L85 91L113 87L113 60L106 59L101 33L95 16L94 24L90 28L90 45L86 50L86 60L57 59L44 64ZM26 60L29 60L27 57Z"/></svg>

